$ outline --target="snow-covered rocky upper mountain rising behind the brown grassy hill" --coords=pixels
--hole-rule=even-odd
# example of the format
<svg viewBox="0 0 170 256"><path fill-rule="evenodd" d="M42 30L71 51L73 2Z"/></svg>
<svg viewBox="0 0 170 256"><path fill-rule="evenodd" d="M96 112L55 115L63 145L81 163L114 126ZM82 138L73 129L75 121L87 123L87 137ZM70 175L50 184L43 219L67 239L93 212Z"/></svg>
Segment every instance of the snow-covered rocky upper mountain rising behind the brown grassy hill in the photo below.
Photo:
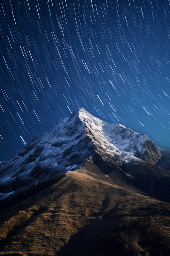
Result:
<svg viewBox="0 0 170 256"><path fill-rule="evenodd" d="M157 172L164 168L167 175L165 169L170 164L169 151L158 148L145 134L106 123L80 108L34 138L1 167L0 200L44 178L77 170L90 157L103 173L114 176L118 172L125 180L135 175L135 166L143 166L144 176L149 178L148 168L157 168ZM153 181L148 190L152 186Z"/></svg>

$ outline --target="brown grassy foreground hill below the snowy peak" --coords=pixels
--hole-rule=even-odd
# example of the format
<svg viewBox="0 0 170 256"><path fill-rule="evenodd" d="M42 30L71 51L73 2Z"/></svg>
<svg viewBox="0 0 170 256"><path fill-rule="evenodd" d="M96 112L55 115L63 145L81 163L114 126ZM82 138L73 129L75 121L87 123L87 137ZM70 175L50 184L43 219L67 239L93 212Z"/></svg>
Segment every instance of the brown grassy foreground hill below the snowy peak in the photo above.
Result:
<svg viewBox="0 0 170 256"><path fill-rule="evenodd" d="M0 255L170 255L170 205L146 196L123 174L107 176L90 158L6 209Z"/></svg>

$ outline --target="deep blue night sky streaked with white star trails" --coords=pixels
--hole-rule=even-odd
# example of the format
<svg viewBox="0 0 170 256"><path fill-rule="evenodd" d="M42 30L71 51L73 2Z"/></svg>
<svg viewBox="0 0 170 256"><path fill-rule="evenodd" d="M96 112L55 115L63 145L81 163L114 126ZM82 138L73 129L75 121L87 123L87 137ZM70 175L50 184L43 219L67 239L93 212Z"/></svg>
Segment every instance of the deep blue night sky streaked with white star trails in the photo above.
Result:
<svg viewBox="0 0 170 256"><path fill-rule="evenodd" d="M80 107L170 149L169 0L1 2L2 164Z"/></svg>

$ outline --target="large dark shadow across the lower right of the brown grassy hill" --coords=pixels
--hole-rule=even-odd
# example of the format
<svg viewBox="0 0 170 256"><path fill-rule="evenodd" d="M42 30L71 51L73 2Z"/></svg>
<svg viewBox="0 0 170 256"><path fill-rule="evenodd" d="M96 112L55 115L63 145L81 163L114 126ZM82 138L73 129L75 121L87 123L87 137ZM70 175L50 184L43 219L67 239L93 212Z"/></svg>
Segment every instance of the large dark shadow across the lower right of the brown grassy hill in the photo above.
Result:
<svg viewBox="0 0 170 256"><path fill-rule="evenodd" d="M141 213L144 215L137 217L135 210L130 214L117 214L118 208L119 204L101 218L101 212L99 216L96 214L97 218L89 221L85 227L74 234L69 243L64 245L56 255L169 255L168 209L143 208Z"/></svg>

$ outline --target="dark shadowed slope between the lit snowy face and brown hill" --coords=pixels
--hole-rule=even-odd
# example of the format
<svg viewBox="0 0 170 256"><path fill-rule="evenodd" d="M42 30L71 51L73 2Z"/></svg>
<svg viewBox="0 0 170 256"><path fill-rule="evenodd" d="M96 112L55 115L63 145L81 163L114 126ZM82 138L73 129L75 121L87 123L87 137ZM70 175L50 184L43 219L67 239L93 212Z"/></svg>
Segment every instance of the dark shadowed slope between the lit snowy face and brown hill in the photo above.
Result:
<svg viewBox="0 0 170 256"><path fill-rule="evenodd" d="M136 188L163 202L170 202L170 170L162 169L145 161L122 164L118 159L96 152L93 163L111 177L118 186L134 185ZM130 177L130 174L133 177Z"/></svg>

